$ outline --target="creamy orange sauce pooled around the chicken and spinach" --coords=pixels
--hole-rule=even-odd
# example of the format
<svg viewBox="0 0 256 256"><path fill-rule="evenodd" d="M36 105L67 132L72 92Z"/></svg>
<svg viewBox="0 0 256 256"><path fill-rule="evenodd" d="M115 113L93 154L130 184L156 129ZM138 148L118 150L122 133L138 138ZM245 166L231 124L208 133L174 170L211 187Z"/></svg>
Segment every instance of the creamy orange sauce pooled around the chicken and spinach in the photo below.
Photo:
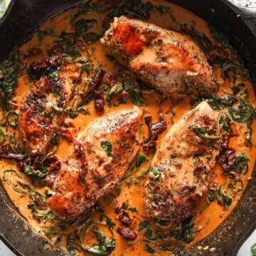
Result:
<svg viewBox="0 0 256 256"><path fill-rule="evenodd" d="M173 16L176 18L176 21L178 23L188 23L188 24L195 24L195 28L197 31L206 34L210 40L213 41L213 38L210 34L209 28L205 21L203 21L201 18L198 18L194 14L192 14L189 11L186 11L185 9L182 9L179 6L176 6L174 4L169 4L166 1L151 1L152 4L161 4L165 6L170 6L172 10ZM75 14L78 11L78 8L70 9L68 11L63 12L62 14L56 16L55 18L49 19L45 24L41 26L41 30L45 31L46 29L50 28L55 32L55 35L60 35L62 31L65 32L72 32L73 28L70 25L70 16ZM96 18L99 22L97 23L97 26L94 26L90 29L90 31L99 32L102 31L102 28L100 27L100 24L102 23L102 14L93 13L93 14L85 14L81 17L84 18ZM176 28L176 22L174 22L169 14L164 14L161 16L159 12L157 11L151 11L151 18L149 18L149 22L156 23L159 26L162 26L164 28ZM31 41L28 41L28 43L25 43L20 48L20 55L21 60L27 64L32 63L33 61L39 60L41 58L46 58L47 56L47 50L50 49L56 38L54 36L46 36L46 38L43 39L42 42L38 41L38 36L35 35L33 38L31 38ZM37 55L28 55L29 50L31 48L40 48L42 50L41 53ZM91 59L93 65L100 65L104 70L111 71L114 68L116 68L114 63L112 63L108 58L105 56L105 49L98 41L97 43L94 43L92 45L88 46L88 50L90 51ZM87 58L87 53L82 52L82 55L84 55L85 58ZM69 65L66 67L69 69L69 72L72 74L75 70L75 68L72 65ZM231 92L231 87L233 85L231 80L223 80L223 78L220 75L219 68L215 68L214 70L215 75L218 78L218 82L220 83L220 90L218 92L218 95L228 95ZM65 74L65 71L63 71ZM82 80L86 80L86 75L82 76ZM26 72L22 72L21 75L18 78L18 86L16 87L15 95L17 104L19 105L21 103L22 98L26 95L29 88L31 87L32 83L29 82L28 76L26 75ZM250 102L255 106L255 95L252 89L252 85L250 82L246 82L246 87L249 92L249 98ZM146 97L146 106L142 106L141 108L144 110L144 113L150 113L153 117L153 122L157 122L159 120L159 100L160 96L156 94L156 92L148 92L144 94L144 97ZM127 102L126 104L122 104L119 106L114 106L112 103L111 107L108 105L105 105L105 112L103 114L106 114L107 112L114 112L120 109L124 108L132 108L132 103ZM78 134L78 132L81 129L84 129L87 127L87 124L90 123L92 119L95 119L99 117L102 114L97 114L93 107L93 102L90 102L89 105L85 106L89 111L90 115L83 115L79 114L78 117L75 119L70 119L71 122L75 125L75 134ZM188 99L183 99L178 105L175 107L172 107L171 98L166 100L164 102L163 107L163 113L166 114L165 119L168 124L168 128L165 132L163 132L159 136L158 144L161 142L161 139L164 137L166 132L169 130L169 128L174 124L175 122L178 122L178 120L182 117L182 115L191 109L191 105L189 104ZM172 114L172 113L175 114ZM246 124L238 124L236 123L236 129L238 131L238 137L233 137L230 141L230 147L235 149L235 151L238 153L245 153L249 157L249 171L245 176L241 175L241 179L244 185L244 189L247 185L247 181L250 179L250 176L252 174L253 165L255 163L255 156L256 156L256 149L255 149L255 142L256 142L256 135L255 133L252 133L252 148L246 147L244 145L244 133L247 131ZM255 131L256 129L256 122L252 123L252 131ZM142 140L146 139L148 137L148 129L146 125L142 127ZM60 139L60 146L58 147L58 151L56 151L56 155L61 159L65 153L68 151L68 148L70 146L70 143L67 142L65 139ZM145 155L148 161L144 163L139 170L131 176L132 180L135 180L138 178L139 174L142 174L143 171L146 171L149 169L150 161L151 161L151 154L145 154L143 150L141 150L141 154ZM13 169L16 172L4 172L6 169ZM4 175L5 174L5 175ZM217 181L219 184L225 184L225 186L229 183L228 176L223 175L223 171L221 167L216 164L213 169L213 174L216 175L215 181ZM26 177L26 175L22 174L18 169L16 168L16 163L14 161L0 161L0 177L3 180L4 188L6 188L7 193L9 194L9 197L11 198L11 201L14 202L14 205L18 208L18 210L21 212L21 214L26 218L27 222L31 227L35 230L36 233L39 233L40 235L43 235L46 237L42 230L49 230L51 223L39 223L38 220L33 218L33 215L31 214L31 210L28 209L27 205L30 201L28 195L26 193L18 193L14 191L14 188L23 188L23 186L20 186L17 184L16 180L17 178L26 181L27 183L31 183L30 179ZM5 178L4 178L5 177ZM138 185L130 184L131 178L127 178L120 186L121 192L119 196L113 197L110 195L104 196L99 201L99 206L104 210L105 215L107 215L109 218L112 219L114 223L116 223L116 227L120 226L120 224L117 221L117 215L114 213L114 209L117 206L122 206L122 203L129 202L129 206L132 206L134 208L137 208L138 213L130 213L130 217L133 218L133 227L134 230L137 231L137 226L141 220L145 219L145 212L144 212L144 183L146 182L146 178L142 179L141 183ZM39 191L43 194L43 191L45 191L46 188L35 188L36 191ZM195 224L198 228L198 231L196 232L196 239L193 240L190 244L186 246L191 246L196 244L196 242L199 242L202 238L205 238L208 234L213 232L215 228L220 225L220 223L225 220L225 218L228 216L231 210L235 207L236 203L238 202L242 192L239 192L233 196L233 203L230 206L228 210L223 210L223 207L220 206L218 203L213 202L210 203L210 206L206 208L206 210L203 211L201 214L197 214L195 218ZM203 208L205 205L205 201L202 200L201 206L199 209ZM198 210L199 210L198 209ZM92 214L91 219L98 221L99 214L94 213ZM81 225L81 223L80 223ZM93 226L93 225L92 225ZM107 230L105 226L100 226L101 230L103 230L106 235L109 237L111 236L111 233ZM76 225L68 225L68 229L65 230L65 233L69 233L72 230L78 229L78 226ZM92 235L90 234L90 229L87 231L87 235L85 235L85 240L83 241L85 245L91 245L93 243L94 238L92 238ZM114 230L114 238L116 238L116 247L114 252L112 252L112 255L148 255L149 253L144 250L145 242L142 241L143 236L139 234L139 238L135 242L127 242L125 241L121 236L117 234L117 232ZM50 242L55 242L56 237L53 237L50 239ZM63 235L62 240L56 245L58 247L61 247L65 250L65 235ZM151 247L156 249L154 247L154 242L150 244ZM167 252L161 252L161 255L166 255ZM82 255L82 252L80 252L80 255Z"/></svg>

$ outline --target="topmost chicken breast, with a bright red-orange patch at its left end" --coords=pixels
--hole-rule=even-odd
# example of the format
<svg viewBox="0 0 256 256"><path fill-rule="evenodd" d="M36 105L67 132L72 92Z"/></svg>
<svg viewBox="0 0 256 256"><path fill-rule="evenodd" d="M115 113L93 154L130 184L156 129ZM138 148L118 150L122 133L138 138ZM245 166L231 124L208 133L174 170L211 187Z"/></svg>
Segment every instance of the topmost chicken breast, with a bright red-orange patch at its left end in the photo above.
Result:
<svg viewBox="0 0 256 256"><path fill-rule="evenodd" d="M164 95L218 90L206 55L189 36L121 16L114 18L101 42L122 65Z"/></svg>

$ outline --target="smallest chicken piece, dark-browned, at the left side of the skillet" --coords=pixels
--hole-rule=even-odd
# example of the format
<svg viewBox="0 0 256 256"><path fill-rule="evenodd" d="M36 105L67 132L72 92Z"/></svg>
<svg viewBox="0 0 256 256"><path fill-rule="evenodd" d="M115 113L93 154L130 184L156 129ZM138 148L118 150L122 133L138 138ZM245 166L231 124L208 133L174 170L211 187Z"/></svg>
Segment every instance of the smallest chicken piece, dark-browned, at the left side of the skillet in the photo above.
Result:
<svg viewBox="0 0 256 256"><path fill-rule="evenodd" d="M18 120L28 154L43 155L48 151L50 140L65 117L64 110L70 100L72 82L60 78L55 82L46 76L35 82L24 97Z"/></svg>

